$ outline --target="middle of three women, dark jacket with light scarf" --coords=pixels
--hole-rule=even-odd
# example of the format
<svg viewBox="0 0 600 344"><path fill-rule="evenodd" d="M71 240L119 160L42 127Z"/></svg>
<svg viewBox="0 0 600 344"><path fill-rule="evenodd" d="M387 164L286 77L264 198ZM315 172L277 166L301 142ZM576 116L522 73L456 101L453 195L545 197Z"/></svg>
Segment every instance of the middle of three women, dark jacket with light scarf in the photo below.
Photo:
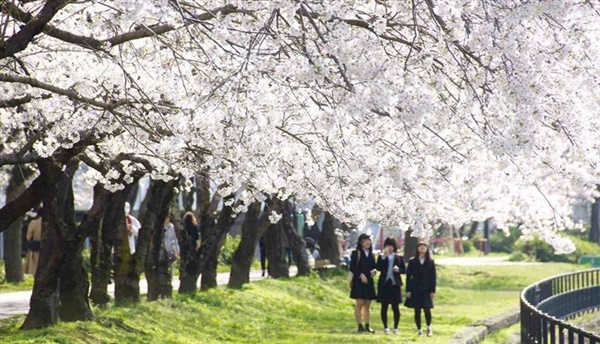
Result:
<svg viewBox="0 0 600 344"><path fill-rule="evenodd" d="M377 258L377 271L380 272L377 284L377 301L381 302L381 321L383 332L389 333L387 321L388 307L392 306L394 312L394 334L398 333L400 323L400 302L402 302L402 278L400 274L406 273L404 258L396 254L398 245L396 239L388 237L383 243L383 252Z"/></svg>

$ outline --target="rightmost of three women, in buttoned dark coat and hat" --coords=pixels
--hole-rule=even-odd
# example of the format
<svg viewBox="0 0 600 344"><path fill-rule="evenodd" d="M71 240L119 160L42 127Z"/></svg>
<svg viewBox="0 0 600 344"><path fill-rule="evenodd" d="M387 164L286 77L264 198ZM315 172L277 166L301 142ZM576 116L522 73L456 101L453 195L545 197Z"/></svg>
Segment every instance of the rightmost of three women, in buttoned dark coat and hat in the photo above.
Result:
<svg viewBox="0 0 600 344"><path fill-rule="evenodd" d="M408 261L406 268L406 301L405 306L414 308L415 324L419 336L421 331L421 310L425 313L427 336L431 337L431 309L435 298L436 272L435 263L429 254L429 246L424 242L417 245L417 252Z"/></svg>

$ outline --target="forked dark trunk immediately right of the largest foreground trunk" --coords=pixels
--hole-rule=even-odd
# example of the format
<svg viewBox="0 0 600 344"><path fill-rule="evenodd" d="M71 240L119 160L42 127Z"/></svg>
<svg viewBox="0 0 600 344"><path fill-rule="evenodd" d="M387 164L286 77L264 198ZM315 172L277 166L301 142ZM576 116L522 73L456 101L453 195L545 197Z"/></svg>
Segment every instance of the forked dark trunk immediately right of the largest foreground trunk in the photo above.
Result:
<svg viewBox="0 0 600 344"><path fill-rule="evenodd" d="M78 165L67 169L67 176L61 178L57 183L57 201L59 219L64 226L62 263L59 270L59 297L60 318L64 321L82 321L93 317L88 301L89 280L88 272L83 265L83 244L89 227L99 216L90 218L86 215L82 225L77 228L75 223L75 201L73 196L73 175ZM106 194L96 192L94 194L94 207L104 207ZM99 191L99 190L98 190Z"/></svg>

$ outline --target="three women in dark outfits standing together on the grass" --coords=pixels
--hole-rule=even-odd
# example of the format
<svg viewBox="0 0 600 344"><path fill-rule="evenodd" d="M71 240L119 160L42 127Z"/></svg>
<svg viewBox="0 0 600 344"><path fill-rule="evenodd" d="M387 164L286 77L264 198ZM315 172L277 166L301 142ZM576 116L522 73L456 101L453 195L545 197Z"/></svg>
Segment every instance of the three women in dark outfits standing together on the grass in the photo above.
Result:
<svg viewBox="0 0 600 344"><path fill-rule="evenodd" d="M415 310L415 325L419 336L423 334L421 311L425 313L427 335L432 336L431 308L435 298L436 271L435 263L429 254L429 247L425 243L419 243L415 257L411 258L408 267L405 267L402 256L396 254L398 247L394 238L385 239L383 246L383 251L375 260L371 237L361 234L358 237L357 248L350 257L350 297L356 300L354 316L358 332L375 332L370 326L370 305L372 300L377 299L381 303L384 333L390 332L387 318L390 307L394 314L393 333L398 333L399 305L402 302L400 275L406 273L405 306ZM377 271L380 275L376 294L374 277Z"/></svg>

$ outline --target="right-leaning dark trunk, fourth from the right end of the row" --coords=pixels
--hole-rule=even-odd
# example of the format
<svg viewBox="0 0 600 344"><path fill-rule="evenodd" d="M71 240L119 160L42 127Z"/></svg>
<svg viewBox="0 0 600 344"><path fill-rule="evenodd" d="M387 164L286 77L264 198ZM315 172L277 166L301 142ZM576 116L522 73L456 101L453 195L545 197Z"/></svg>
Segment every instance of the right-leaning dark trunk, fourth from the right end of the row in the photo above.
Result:
<svg viewBox="0 0 600 344"><path fill-rule="evenodd" d="M254 202L248 207L242 224L242 240L233 253L229 287L239 288L250 282L250 267L254 259L254 251L260 237L268 228L268 213L260 216L260 202Z"/></svg>

